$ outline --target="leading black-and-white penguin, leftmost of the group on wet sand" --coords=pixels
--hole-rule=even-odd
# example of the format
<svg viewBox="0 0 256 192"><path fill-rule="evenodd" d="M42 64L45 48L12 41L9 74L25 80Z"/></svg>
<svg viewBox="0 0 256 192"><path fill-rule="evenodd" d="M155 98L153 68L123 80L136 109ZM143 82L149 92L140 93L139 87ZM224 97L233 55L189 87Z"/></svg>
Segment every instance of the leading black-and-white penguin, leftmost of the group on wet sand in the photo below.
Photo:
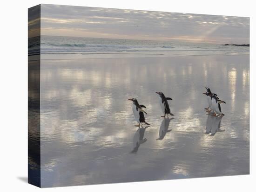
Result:
<svg viewBox="0 0 256 192"><path fill-rule="evenodd" d="M143 113L147 114L143 109L146 108L144 105L140 105L137 101L137 99L132 98L128 99L129 101L133 102L133 114L135 117L135 120L139 123L139 125L135 125L135 127L139 127L141 123L145 123L146 125L150 125L145 121L145 116Z"/></svg>

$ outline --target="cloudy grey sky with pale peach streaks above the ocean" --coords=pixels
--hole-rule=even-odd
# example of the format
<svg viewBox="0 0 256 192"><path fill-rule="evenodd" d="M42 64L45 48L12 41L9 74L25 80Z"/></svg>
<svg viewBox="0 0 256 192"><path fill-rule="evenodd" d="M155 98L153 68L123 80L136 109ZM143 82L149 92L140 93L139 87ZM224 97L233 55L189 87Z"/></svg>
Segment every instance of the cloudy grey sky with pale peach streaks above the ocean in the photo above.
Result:
<svg viewBox="0 0 256 192"><path fill-rule="evenodd" d="M249 18L42 4L41 35L249 44Z"/></svg>

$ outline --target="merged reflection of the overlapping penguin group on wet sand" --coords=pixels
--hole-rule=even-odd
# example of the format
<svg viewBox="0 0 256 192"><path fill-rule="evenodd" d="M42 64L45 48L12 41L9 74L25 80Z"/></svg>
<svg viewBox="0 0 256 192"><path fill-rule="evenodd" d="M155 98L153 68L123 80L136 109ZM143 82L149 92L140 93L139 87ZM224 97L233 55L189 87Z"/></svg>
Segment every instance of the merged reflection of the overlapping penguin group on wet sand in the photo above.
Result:
<svg viewBox="0 0 256 192"><path fill-rule="evenodd" d="M204 131L204 133L213 136L216 134L216 132L225 131L220 129L221 121L222 121L222 117L215 117L212 115L208 115L206 120L206 130Z"/></svg>

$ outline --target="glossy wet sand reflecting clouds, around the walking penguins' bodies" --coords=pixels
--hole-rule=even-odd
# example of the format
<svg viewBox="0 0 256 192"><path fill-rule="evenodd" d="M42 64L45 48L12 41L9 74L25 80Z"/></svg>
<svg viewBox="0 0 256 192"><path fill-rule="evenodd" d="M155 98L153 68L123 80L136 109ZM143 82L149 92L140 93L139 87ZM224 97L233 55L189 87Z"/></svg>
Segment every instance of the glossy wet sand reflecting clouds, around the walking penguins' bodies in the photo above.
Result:
<svg viewBox="0 0 256 192"><path fill-rule="evenodd" d="M42 186L249 174L249 56L42 60L41 91ZM132 97L150 127L134 126Z"/></svg>

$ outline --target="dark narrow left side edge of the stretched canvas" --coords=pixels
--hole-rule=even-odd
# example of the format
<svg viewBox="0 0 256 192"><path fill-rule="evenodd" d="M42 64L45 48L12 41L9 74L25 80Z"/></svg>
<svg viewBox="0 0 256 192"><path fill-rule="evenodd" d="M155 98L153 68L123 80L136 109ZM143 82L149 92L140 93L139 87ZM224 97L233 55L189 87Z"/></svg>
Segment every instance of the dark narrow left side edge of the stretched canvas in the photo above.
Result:
<svg viewBox="0 0 256 192"><path fill-rule="evenodd" d="M28 183L40 187L40 5L28 9Z"/></svg>

